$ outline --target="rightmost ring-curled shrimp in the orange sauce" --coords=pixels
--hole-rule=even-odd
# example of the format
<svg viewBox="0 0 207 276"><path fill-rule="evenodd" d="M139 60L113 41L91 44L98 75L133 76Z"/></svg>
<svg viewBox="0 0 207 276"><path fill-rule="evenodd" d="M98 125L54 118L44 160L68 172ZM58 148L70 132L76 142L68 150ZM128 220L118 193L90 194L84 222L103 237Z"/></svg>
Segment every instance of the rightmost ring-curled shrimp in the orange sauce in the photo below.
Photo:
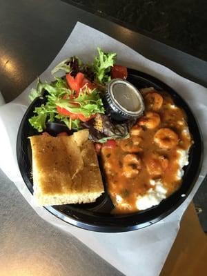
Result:
<svg viewBox="0 0 207 276"><path fill-rule="evenodd" d="M170 150L170 148L177 146L179 137L170 128L160 128L155 133L154 141L159 146L159 148Z"/></svg>

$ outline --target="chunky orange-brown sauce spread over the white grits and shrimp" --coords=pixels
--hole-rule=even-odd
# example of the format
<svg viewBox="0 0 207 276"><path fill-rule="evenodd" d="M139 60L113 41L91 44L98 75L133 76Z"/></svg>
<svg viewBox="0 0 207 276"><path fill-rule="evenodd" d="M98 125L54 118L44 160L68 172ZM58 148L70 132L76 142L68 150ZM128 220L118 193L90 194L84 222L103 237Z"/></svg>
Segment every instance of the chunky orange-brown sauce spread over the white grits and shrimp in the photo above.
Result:
<svg viewBox="0 0 207 276"><path fill-rule="evenodd" d="M184 110L174 105L172 98L166 92L159 92L159 95L163 98L159 110L152 110L153 105L146 103L146 112L152 111L159 115L158 126L146 127L145 120L148 119L145 117L147 114L145 112L144 117L137 120L137 126L141 125L139 135L131 134L126 140L117 140L115 147L103 146L101 149L108 193L115 205L112 213L136 212L137 196L145 195L149 188L153 188L150 184L153 179L161 179L167 189L166 197L181 184L181 179L177 178L179 170L177 150L188 151L192 144L190 134L186 132L188 130L186 114ZM141 124L141 121L144 123ZM155 133L161 128L170 128L175 133L177 140L174 146L163 148L155 142ZM137 137L140 140L138 143ZM168 143L169 139L164 137L161 142ZM126 155L128 159L131 158L131 162L126 161ZM119 197L122 199L121 203Z"/></svg>

